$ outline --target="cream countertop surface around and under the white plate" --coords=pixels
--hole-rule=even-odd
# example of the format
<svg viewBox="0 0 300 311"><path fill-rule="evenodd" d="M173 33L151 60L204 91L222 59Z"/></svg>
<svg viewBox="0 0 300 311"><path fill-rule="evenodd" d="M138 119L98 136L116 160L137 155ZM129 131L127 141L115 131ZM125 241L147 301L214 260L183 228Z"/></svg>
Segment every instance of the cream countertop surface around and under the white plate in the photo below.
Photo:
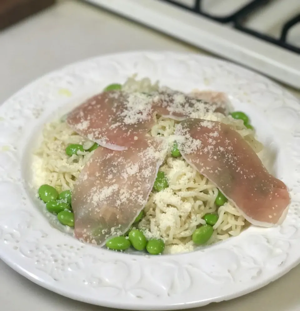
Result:
<svg viewBox="0 0 300 311"><path fill-rule="evenodd" d="M60 1L45 13L0 32L0 47L0 103L50 70L99 54L137 49L203 53L77 1ZM300 97L300 92L295 94ZM41 288L1 260L0 280L3 311L109 310ZM254 293L198 311L298 311L299 287L300 266Z"/></svg>

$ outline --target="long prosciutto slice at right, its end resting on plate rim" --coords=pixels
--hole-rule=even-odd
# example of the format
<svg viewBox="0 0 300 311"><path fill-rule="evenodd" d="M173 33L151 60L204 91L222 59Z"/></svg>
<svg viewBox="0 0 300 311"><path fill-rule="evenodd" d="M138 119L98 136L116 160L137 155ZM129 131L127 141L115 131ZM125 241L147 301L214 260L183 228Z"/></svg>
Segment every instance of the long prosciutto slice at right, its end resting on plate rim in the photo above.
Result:
<svg viewBox="0 0 300 311"><path fill-rule="evenodd" d="M230 126L187 119L175 132L186 161L212 181L252 224L284 220L290 203L286 185L270 175L251 146Z"/></svg>

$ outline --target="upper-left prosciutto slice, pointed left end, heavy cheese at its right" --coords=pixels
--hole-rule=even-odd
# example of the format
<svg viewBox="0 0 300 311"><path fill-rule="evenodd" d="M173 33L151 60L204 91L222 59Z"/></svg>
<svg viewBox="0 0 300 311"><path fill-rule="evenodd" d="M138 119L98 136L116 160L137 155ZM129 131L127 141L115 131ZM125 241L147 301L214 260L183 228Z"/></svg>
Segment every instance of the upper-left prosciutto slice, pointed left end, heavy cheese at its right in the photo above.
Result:
<svg viewBox="0 0 300 311"><path fill-rule="evenodd" d="M152 100L142 93L104 92L75 108L66 121L100 146L123 150L151 128Z"/></svg>

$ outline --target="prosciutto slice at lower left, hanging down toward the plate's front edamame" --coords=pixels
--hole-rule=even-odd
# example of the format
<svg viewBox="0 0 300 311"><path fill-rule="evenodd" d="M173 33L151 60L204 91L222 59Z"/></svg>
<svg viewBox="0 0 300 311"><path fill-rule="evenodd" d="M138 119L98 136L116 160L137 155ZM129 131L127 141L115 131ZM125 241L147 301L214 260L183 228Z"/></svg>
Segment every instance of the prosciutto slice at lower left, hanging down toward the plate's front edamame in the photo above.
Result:
<svg viewBox="0 0 300 311"><path fill-rule="evenodd" d="M72 195L75 236L103 245L125 233L147 203L168 143L140 137L123 151L98 147Z"/></svg>

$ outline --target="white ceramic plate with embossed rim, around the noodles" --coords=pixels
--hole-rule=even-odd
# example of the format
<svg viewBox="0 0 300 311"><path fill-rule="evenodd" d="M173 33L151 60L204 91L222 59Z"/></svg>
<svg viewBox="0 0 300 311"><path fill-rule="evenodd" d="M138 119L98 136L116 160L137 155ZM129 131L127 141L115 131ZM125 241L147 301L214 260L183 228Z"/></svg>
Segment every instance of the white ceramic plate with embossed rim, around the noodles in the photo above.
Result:
<svg viewBox="0 0 300 311"><path fill-rule="evenodd" d="M182 91L226 92L236 109L250 115L259 139L275 154L276 176L291 190L281 226L250 227L193 253L144 256L84 245L49 224L27 187L42 124L134 73ZM300 262L300 105L256 73L194 54L103 56L38 79L4 103L0 116L0 256L45 288L114 308L191 308L249 293Z"/></svg>

